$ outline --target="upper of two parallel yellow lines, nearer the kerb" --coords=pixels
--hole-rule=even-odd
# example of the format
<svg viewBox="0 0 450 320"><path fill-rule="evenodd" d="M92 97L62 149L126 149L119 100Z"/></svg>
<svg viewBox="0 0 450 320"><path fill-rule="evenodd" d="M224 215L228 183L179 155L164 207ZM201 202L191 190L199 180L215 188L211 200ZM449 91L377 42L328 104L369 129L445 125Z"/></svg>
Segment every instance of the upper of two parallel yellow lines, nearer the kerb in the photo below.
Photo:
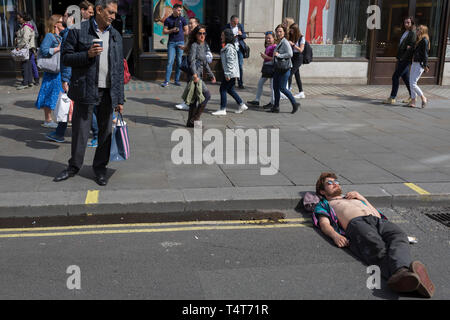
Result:
<svg viewBox="0 0 450 320"><path fill-rule="evenodd" d="M280 219L277 223L303 223L310 219ZM102 224L86 226L68 226L68 227L42 227L42 228L11 228L0 229L0 232L35 232L35 231L55 231L55 230L82 230L82 229L113 229L113 228L146 228L146 227L169 227L169 226L195 226L195 225L220 225L220 224L259 224L271 223L273 220L223 220L223 221L186 221L186 222L166 222L166 223L132 223L132 224Z"/></svg>

